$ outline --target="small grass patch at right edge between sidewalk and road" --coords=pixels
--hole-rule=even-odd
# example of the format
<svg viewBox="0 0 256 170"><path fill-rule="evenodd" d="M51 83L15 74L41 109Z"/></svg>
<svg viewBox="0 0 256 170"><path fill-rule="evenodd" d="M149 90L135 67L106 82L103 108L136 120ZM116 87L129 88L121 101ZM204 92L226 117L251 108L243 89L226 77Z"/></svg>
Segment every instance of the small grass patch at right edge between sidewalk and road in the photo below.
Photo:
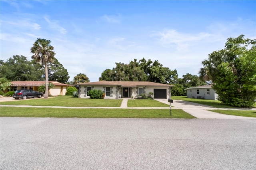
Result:
<svg viewBox="0 0 256 170"><path fill-rule="evenodd" d="M226 115L235 115L235 116L244 116L244 117L256 117L256 111L241 111L241 110L209 110L216 113L226 114Z"/></svg>

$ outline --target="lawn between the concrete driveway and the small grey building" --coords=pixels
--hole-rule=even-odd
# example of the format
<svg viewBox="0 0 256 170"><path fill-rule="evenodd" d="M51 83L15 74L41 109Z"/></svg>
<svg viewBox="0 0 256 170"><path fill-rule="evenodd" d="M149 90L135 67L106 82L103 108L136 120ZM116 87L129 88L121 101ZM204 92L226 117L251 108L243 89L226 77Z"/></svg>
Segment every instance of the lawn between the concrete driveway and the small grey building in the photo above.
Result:
<svg viewBox="0 0 256 170"><path fill-rule="evenodd" d="M202 105L207 105L207 106L212 106L212 107L216 107L216 108L231 108L231 109L237 109L237 107L232 107L232 106L228 106L228 105L223 105L222 103L220 103L220 101L218 100L206 100L206 99L192 99L192 98L188 98L186 96L172 96L173 100L183 100L183 101L190 101L193 103L198 103L198 104L202 104Z"/></svg>

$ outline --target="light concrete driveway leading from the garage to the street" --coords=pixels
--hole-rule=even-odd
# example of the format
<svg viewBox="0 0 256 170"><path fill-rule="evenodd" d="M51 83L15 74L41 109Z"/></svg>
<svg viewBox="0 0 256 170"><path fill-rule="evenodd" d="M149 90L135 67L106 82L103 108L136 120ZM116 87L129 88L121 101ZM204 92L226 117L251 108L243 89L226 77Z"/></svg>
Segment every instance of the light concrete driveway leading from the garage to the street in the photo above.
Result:
<svg viewBox="0 0 256 170"><path fill-rule="evenodd" d="M155 99L156 101L170 104L167 99ZM256 109L221 109L206 105L201 105L198 103L192 103L188 101L182 101L182 100L174 100L174 103L172 103L172 109L182 109L186 113L189 113L190 115L197 117L199 119L255 119L254 117L242 117L242 116L234 116L234 115L225 115L220 113L211 112L208 110L255 110Z"/></svg>

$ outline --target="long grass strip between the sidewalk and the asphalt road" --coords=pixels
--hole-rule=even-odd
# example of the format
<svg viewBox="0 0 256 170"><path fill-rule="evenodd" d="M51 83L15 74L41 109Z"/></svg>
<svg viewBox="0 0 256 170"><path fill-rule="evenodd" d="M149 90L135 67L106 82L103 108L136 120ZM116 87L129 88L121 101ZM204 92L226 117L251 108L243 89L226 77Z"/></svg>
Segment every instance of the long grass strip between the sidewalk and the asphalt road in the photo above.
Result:
<svg viewBox="0 0 256 170"><path fill-rule="evenodd" d="M56 118L178 118L193 119L181 109L58 109L1 107L1 117L56 117Z"/></svg>

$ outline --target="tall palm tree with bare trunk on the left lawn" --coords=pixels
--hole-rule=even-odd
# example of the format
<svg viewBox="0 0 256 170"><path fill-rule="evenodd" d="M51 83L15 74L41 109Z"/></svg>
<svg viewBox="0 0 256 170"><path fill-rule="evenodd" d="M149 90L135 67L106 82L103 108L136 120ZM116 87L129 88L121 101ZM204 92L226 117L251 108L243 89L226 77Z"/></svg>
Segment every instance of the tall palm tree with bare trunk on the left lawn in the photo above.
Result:
<svg viewBox="0 0 256 170"><path fill-rule="evenodd" d="M41 63L45 68L45 95L44 99L48 99L49 89L48 89L48 63L53 63L55 58L54 47L50 45L51 41L46 39L38 38L36 42L31 47L32 59L36 59L36 62Z"/></svg>

